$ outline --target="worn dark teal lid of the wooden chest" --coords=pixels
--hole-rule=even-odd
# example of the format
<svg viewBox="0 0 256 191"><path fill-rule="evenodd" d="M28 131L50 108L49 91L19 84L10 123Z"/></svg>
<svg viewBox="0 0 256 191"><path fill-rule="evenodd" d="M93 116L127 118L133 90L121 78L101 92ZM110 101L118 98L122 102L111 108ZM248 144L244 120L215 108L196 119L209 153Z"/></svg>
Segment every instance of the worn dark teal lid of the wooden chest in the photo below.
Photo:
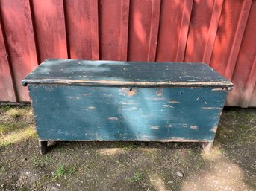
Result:
<svg viewBox="0 0 256 191"><path fill-rule="evenodd" d="M204 63L119 62L46 59L23 85L68 84L140 87L231 87L231 82Z"/></svg>

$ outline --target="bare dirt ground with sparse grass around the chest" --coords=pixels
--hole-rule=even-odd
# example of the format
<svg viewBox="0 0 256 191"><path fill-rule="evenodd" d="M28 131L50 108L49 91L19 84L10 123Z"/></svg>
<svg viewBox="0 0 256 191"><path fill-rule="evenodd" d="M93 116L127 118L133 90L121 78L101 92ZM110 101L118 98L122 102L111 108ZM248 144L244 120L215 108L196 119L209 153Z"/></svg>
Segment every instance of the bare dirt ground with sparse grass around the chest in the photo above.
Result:
<svg viewBox="0 0 256 191"><path fill-rule="evenodd" d="M256 190L256 109L225 109L199 143L52 142L40 155L29 106L0 106L0 190Z"/></svg>

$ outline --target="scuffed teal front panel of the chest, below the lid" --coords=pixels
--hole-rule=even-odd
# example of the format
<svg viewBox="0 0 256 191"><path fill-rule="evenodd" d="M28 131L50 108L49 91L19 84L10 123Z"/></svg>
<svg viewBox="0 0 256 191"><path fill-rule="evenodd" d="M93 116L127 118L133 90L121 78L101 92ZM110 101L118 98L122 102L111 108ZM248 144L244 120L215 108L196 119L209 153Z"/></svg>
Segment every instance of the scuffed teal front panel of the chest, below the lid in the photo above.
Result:
<svg viewBox="0 0 256 191"><path fill-rule="evenodd" d="M221 88L29 85L41 140L212 141Z"/></svg>

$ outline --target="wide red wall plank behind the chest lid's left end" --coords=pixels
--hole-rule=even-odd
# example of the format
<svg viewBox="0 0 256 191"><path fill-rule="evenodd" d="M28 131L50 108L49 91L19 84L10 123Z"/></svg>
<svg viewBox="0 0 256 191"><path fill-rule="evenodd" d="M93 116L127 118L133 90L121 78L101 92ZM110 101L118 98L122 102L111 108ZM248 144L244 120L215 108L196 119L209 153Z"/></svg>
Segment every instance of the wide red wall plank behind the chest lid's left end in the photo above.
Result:
<svg viewBox="0 0 256 191"><path fill-rule="evenodd" d="M28 91L21 80L38 63L30 1L0 1L0 4L17 101L28 101Z"/></svg>

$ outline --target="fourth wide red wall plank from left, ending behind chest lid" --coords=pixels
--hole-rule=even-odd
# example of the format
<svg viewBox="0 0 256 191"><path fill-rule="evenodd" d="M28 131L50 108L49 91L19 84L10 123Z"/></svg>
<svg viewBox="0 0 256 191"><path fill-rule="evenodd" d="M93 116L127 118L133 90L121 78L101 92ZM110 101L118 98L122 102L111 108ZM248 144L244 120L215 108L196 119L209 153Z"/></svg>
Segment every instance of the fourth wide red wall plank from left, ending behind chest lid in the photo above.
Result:
<svg viewBox="0 0 256 191"><path fill-rule="evenodd" d="M97 1L64 2L70 58L99 59Z"/></svg>

